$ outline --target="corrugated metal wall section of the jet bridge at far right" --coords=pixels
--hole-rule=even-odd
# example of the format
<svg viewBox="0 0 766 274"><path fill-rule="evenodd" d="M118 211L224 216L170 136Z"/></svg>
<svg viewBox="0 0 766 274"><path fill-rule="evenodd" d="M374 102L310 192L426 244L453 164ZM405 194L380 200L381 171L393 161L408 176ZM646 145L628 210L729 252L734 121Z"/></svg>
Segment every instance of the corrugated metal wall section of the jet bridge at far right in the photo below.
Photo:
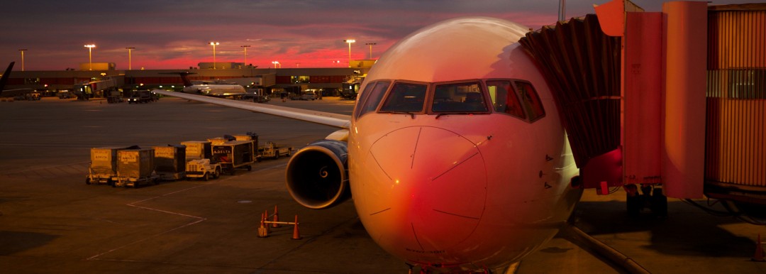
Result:
<svg viewBox="0 0 766 274"><path fill-rule="evenodd" d="M764 7L709 11L706 183L766 187Z"/></svg>

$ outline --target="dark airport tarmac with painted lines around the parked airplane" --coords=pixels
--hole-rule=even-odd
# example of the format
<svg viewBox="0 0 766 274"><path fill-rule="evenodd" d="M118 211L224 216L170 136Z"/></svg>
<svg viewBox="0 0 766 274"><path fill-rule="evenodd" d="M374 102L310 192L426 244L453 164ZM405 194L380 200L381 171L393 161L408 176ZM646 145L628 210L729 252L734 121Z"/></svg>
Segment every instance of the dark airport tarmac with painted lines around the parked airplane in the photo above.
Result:
<svg viewBox="0 0 766 274"><path fill-rule="evenodd" d="M353 101L268 104L350 114ZM300 148L335 128L165 97L107 104L44 97L0 102L0 272L6 273L405 273L378 247L351 200L309 210L285 189L287 158L255 163L217 180L146 187L87 185L91 147L152 147L224 134ZM622 190L585 190L572 223L651 273L766 273L753 262L766 227L712 216L669 199L669 216L630 218ZM707 203L706 200L699 200ZM260 238L264 211L280 221ZM595 246L559 233L516 273L627 273ZM415 269L417 271L417 269Z"/></svg>

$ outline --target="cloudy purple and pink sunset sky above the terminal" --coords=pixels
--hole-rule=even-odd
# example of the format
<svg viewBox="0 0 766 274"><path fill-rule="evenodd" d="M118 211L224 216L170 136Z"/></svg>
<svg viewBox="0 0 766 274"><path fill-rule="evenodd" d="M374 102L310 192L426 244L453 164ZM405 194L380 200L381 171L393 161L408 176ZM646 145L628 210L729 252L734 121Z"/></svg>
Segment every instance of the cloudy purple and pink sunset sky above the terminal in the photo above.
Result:
<svg viewBox="0 0 766 274"><path fill-rule="evenodd" d="M567 18L594 13L607 0L568 0ZM659 1L634 0L650 12ZM714 1L714 4L743 3ZM751 1L749 1L751 2ZM88 62L113 62L133 69L197 67L213 61L243 62L259 68L280 61L282 68L345 67L352 59L378 58L412 31L448 18L482 15L516 21L530 28L555 23L558 0L218 0L218 1L8 1L0 16L0 66L16 61L21 70L79 68ZM340 64L333 63L340 61ZM300 64L298 64L300 63Z"/></svg>

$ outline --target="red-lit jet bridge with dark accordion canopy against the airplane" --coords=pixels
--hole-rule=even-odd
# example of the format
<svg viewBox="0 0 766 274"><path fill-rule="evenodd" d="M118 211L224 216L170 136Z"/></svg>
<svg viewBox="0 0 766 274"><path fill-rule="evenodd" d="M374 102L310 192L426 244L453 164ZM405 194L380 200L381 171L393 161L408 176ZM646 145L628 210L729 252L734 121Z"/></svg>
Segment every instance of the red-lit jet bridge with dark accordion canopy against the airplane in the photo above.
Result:
<svg viewBox="0 0 766 274"><path fill-rule="evenodd" d="M581 186L661 185L763 222L766 4L615 0L596 14L519 41L552 88Z"/></svg>

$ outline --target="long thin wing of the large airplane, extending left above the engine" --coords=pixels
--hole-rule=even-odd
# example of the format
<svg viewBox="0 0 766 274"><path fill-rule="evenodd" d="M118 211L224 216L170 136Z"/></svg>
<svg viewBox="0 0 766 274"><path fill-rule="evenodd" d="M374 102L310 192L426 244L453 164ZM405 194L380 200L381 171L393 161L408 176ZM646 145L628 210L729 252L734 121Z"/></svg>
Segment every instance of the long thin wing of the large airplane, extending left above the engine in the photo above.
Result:
<svg viewBox="0 0 766 274"><path fill-rule="evenodd" d="M333 114L323 111L309 111L293 107L280 107L270 104L256 104L248 101L236 101L222 99L217 97L208 97L195 94L187 94L175 91L153 90L155 94L165 96L179 97L192 101L200 101L210 104L218 104L226 107L236 107L247 111L255 111L263 114L270 114L280 117L293 118L296 120L305 120L316 124L324 124L331 127L340 127L348 129L351 123L351 116L344 114Z"/></svg>

